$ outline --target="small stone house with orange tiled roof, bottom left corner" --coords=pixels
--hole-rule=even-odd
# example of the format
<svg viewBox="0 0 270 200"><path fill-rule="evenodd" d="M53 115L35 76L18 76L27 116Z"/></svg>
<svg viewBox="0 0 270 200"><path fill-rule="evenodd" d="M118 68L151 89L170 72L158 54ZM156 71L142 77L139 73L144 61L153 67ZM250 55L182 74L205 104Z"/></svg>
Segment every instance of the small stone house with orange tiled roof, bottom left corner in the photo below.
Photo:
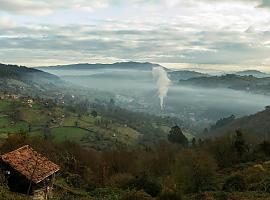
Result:
<svg viewBox="0 0 270 200"><path fill-rule="evenodd" d="M52 196L55 173L60 168L25 145L1 156L1 170L11 191L45 200Z"/></svg>

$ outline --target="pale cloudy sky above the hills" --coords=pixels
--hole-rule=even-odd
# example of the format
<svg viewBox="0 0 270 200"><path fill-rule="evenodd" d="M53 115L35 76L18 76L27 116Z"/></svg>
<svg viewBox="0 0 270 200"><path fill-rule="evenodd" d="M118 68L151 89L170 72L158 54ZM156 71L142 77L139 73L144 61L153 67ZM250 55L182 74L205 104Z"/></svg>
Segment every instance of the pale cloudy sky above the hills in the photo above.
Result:
<svg viewBox="0 0 270 200"><path fill-rule="evenodd" d="M0 62L270 71L270 0L0 0Z"/></svg>

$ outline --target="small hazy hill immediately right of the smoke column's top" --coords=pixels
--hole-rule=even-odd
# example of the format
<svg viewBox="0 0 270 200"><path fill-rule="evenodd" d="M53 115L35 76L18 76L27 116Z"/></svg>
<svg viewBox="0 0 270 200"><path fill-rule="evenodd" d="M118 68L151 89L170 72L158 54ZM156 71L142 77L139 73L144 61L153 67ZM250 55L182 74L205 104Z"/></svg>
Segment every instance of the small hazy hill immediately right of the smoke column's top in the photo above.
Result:
<svg viewBox="0 0 270 200"><path fill-rule="evenodd" d="M170 79L175 82L180 80L187 80L190 78L209 77L208 74L189 70L170 71L168 74Z"/></svg>

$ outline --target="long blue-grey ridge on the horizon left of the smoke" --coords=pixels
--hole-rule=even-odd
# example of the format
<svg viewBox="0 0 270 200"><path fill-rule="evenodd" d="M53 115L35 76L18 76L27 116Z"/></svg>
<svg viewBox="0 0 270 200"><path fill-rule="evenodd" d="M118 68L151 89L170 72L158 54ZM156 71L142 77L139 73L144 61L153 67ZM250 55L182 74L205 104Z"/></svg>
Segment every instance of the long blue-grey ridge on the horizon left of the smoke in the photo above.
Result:
<svg viewBox="0 0 270 200"><path fill-rule="evenodd" d="M137 70L152 70L153 67L161 65L153 64L149 62L140 63L140 62L117 62L113 64L88 64L88 63L79 63L71 65L57 65L57 66L46 66L38 67L38 69L50 69L50 70L86 70L86 69L137 69Z"/></svg>

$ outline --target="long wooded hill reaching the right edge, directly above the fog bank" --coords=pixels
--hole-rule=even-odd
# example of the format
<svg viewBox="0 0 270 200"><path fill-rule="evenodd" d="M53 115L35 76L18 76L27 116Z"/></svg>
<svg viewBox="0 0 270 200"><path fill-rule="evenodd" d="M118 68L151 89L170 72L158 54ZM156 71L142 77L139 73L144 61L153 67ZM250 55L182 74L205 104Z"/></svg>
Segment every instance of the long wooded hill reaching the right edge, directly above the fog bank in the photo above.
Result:
<svg viewBox="0 0 270 200"><path fill-rule="evenodd" d="M239 76L226 74L222 76L196 77L180 80L181 85L193 85L207 88L230 88L258 94L270 94L270 77Z"/></svg>

